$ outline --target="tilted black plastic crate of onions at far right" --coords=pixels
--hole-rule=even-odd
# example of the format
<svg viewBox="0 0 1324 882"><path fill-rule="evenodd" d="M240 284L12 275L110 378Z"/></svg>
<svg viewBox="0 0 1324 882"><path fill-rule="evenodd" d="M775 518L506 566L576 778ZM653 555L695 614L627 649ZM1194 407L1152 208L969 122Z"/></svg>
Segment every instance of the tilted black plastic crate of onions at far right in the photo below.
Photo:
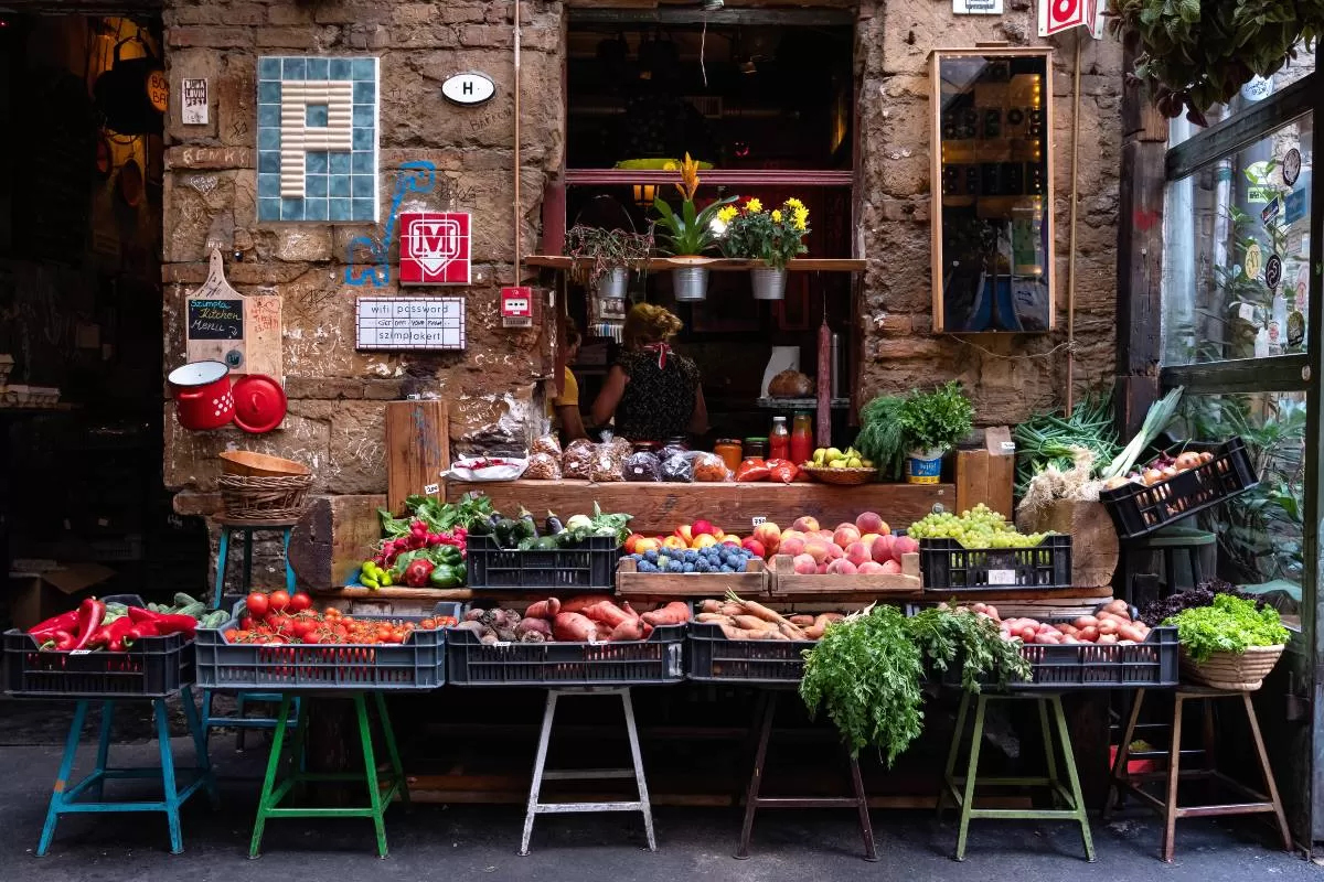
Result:
<svg viewBox="0 0 1324 882"><path fill-rule="evenodd" d="M1133 540L1172 521L1190 517L1259 484L1250 452L1241 438L1211 448L1207 463L1178 472L1152 487L1123 484L1099 493L1117 528L1117 538Z"/></svg>

